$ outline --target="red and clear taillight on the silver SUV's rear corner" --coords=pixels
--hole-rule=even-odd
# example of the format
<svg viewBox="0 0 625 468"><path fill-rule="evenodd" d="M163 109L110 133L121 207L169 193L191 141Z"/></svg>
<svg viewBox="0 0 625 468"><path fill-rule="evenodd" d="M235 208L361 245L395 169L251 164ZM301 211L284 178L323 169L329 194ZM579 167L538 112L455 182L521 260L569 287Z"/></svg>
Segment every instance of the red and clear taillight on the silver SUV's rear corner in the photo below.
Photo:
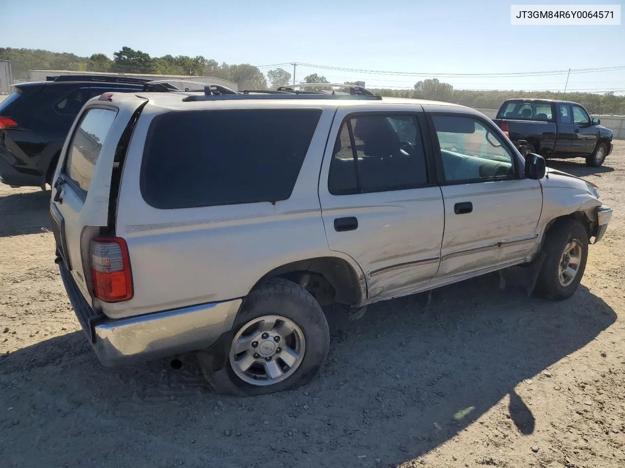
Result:
<svg viewBox="0 0 625 468"><path fill-rule="evenodd" d="M128 245L120 237L96 237L91 241L93 293L101 301L119 302L133 298Z"/></svg>

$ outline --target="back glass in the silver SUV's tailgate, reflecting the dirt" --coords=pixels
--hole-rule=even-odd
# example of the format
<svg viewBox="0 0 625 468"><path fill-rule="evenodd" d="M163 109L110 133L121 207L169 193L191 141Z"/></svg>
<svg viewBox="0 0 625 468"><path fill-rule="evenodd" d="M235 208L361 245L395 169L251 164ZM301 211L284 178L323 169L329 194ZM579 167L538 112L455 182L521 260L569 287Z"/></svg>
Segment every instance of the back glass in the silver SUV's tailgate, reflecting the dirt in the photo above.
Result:
<svg viewBox="0 0 625 468"><path fill-rule="evenodd" d="M117 112L111 109L89 109L74 132L68 147L65 173L84 195L89 192L100 150L116 115Z"/></svg>

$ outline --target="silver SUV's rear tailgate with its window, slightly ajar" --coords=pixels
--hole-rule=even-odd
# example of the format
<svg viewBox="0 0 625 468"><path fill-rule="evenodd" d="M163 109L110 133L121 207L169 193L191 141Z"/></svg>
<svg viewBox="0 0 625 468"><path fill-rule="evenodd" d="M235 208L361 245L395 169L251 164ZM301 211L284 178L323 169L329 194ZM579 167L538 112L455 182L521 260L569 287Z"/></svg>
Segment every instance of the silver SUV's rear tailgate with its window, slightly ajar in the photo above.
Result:
<svg viewBox="0 0 625 468"><path fill-rule="evenodd" d="M53 182L51 215L57 248L91 301L89 243L108 225L111 173L119 140L144 100L96 101L81 112L63 147Z"/></svg>

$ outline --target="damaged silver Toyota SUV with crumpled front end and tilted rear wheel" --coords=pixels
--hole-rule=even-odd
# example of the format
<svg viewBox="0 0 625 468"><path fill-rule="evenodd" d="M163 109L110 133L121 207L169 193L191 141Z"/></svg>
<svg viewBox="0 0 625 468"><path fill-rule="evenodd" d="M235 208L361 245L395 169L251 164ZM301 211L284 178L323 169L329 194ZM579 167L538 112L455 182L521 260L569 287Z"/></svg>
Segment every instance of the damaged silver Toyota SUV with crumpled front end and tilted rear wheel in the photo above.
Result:
<svg viewBox="0 0 625 468"><path fill-rule="evenodd" d="M324 305L516 265L543 295L574 293L612 214L596 188L545 175L476 110L350 90L86 104L51 213L101 363L197 350L217 390L262 394L319 371Z"/></svg>

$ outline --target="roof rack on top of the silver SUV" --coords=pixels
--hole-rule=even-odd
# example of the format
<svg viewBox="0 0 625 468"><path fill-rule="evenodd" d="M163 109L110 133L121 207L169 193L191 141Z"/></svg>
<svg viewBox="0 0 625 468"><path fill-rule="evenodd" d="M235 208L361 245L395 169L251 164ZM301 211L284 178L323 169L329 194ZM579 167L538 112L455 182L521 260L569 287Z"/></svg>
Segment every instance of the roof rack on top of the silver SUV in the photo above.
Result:
<svg viewBox="0 0 625 468"><path fill-rule="evenodd" d="M336 92L334 90L295 90L296 87L341 87L349 89L349 93ZM213 90L215 88L215 90ZM277 90L271 89L246 89L233 91L219 85L207 85L204 87L204 95L191 95L183 99L183 102L202 100L237 100L237 99L366 99L382 100L382 96L373 94L368 89L356 85L332 84L332 83L305 83L303 85L281 86Z"/></svg>

